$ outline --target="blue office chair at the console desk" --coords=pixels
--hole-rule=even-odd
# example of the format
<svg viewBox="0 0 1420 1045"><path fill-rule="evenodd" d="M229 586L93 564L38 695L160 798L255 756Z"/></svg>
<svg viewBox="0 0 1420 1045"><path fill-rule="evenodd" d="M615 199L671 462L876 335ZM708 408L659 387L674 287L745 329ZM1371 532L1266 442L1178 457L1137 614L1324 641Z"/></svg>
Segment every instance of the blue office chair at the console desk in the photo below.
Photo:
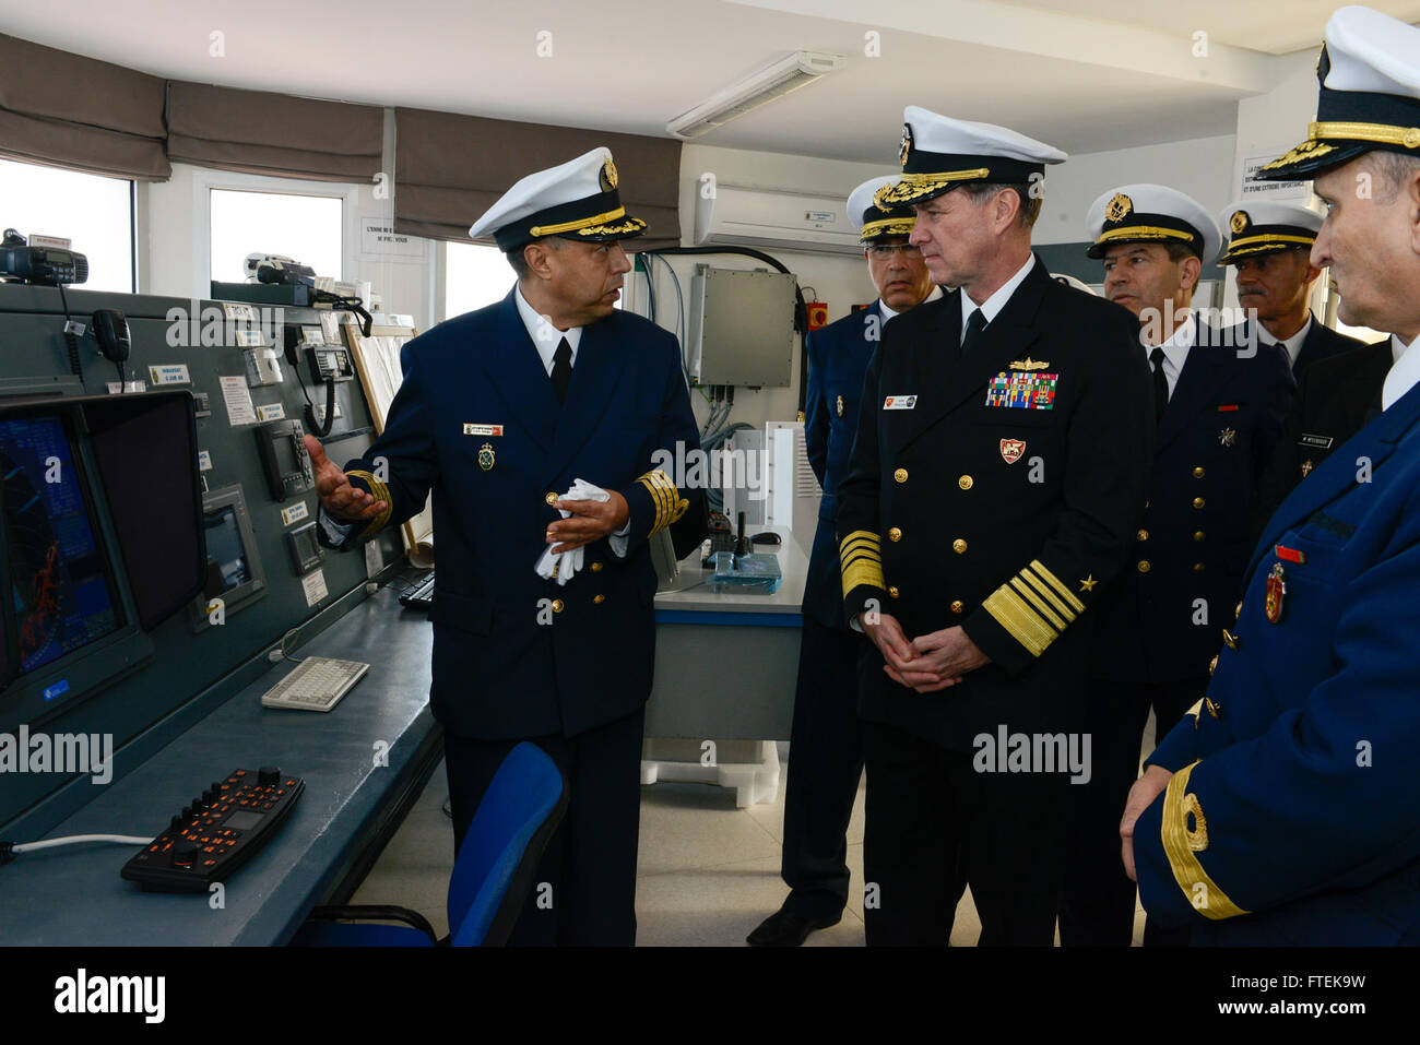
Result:
<svg viewBox="0 0 1420 1045"><path fill-rule="evenodd" d="M527 741L503 760L479 802L449 880L449 936L436 939L417 912L386 904L315 907L294 947L501 947L523 912L538 860L567 812L567 781ZM342 919L344 921L337 921ZM405 926L349 924L349 919Z"/></svg>

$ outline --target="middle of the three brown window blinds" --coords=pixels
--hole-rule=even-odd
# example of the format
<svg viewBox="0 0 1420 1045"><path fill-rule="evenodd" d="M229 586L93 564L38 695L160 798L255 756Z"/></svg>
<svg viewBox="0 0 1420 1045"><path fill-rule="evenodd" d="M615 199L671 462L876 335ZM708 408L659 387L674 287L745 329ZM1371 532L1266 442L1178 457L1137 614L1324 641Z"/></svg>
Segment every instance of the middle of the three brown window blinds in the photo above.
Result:
<svg viewBox="0 0 1420 1045"><path fill-rule="evenodd" d="M172 81L168 156L219 170L369 182L379 170L385 112L375 105Z"/></svg>

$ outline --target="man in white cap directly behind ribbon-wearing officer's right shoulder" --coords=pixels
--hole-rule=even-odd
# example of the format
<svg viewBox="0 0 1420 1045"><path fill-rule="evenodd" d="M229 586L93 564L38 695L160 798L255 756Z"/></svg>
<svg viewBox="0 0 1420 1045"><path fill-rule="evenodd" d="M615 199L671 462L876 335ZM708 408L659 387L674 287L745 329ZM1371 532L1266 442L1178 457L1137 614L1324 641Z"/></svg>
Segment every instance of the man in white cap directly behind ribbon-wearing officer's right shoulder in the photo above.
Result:
<svg viewBox="0 0 1420 1045"><path fill-rule="evenodd" d="M1119 860L1119 814L1139 777L1145 724L1152 710L1163 735L1207 687L1251 547L1252 497L1294 383L1279 348L1223 338L1190 310L1221 240L1191 196L1116 186L1091 206L1086 230L1105 295L1139 317L1136 352L1153 366L1159 430L1127 565L1095 608L1086 727L1095 772L1074 794L1061 943L1127 947L1136 902ZM1187 934L1145 929L1146 946L1181 943Z"/></svg>

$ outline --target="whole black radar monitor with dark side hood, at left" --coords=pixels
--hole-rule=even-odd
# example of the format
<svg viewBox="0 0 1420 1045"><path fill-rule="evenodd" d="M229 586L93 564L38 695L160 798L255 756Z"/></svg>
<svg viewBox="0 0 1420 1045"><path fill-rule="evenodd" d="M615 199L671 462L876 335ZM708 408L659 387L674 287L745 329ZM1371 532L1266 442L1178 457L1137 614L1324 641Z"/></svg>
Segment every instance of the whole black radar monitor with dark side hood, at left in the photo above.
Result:
<svg viewBox="0 0 1420 1045"><path fill-rule="evenodd" d="M0 399L0 730L138 670L200 591L187 392Z"/></svg>

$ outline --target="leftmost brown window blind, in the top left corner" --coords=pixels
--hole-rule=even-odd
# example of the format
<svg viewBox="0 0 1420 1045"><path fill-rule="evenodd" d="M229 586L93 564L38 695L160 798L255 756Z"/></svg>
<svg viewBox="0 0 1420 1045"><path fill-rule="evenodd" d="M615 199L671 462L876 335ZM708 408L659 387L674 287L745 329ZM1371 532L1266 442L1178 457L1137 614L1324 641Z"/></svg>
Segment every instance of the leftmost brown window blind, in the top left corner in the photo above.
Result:
<svg viewBox="0 0 1420 1045"><path fill-rule="evenodd" d="M0 35L0 156L163 182L163 80Z"/></svg>

